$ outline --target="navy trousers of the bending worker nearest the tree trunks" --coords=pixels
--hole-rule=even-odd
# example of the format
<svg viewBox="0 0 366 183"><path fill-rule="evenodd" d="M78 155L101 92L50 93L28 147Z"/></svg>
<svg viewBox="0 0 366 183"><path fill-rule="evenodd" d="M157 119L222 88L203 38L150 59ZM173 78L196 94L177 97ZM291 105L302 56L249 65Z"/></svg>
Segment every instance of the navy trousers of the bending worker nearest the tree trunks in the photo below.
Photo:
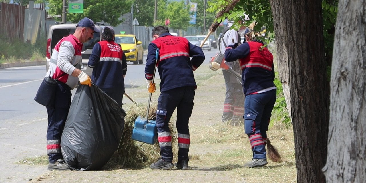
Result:
<svg viewBox="0 0 366 183"><path fill-rule="evenodd" d="M245 97L244 127L253 150L254 159L266 159L264 139L267 139L269 119L276 102L276 90L250 94Z"/></svg>

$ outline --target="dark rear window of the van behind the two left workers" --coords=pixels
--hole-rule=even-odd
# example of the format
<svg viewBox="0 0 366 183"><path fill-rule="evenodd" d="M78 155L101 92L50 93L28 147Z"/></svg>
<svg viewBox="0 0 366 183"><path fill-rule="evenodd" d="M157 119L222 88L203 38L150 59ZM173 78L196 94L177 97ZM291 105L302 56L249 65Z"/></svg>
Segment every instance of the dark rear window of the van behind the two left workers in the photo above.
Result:
<svg viewBox="0 0 366 183"><path fill-rule="evenodd" d="M52 40L52 42L51 42L52 51L53 51L53 48L55 48L57 42L59 42L63 37L66 37L70 34L74 34L75 29L54 29L52 32L52 39L51 39ZM100 41L100 34L94 33L93 39L91 39L88 42L85 42L83 44L82 51L85 51L87 49L93 49L93 46L99 41Z"/></svg>

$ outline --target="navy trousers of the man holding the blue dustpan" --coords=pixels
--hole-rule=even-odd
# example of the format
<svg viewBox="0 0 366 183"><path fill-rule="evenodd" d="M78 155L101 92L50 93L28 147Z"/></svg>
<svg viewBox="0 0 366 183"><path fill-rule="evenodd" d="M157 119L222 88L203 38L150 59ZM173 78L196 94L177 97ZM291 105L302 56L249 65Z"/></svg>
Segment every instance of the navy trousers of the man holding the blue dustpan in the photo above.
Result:
<svg viewBox="0 0 366 183"><path fill-rule="evenodd" d="M156 126L158 134L169 133L170 135L169 119L172 117L175 108L177 108L176 126L178 134L189 135L188 122L194 105L194 94L194 87L179 87L168 91L162 91L160 93L156 111ZM170 145L168 145L168 143L160 144L159 140L159 145L161 157L165 161L172 161L173 152L171 143ZM188 160L188 148L179 147L178 160Z"/></svg>

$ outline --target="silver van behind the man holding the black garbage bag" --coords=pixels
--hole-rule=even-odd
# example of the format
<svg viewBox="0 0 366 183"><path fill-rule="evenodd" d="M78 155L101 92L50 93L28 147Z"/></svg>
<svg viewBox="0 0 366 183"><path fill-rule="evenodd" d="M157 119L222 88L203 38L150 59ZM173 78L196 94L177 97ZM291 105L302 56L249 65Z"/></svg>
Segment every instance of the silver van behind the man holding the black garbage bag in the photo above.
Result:
<svg viewBox="0 0 366 183"><path fill-rule="evenodd" d="M97 26L97 25L96 25L96 27L100 31L102 31L102 27ZM66 37L70 34L74 34L75 30L76 30L76 23L57 24L57 25L52 25L51 27L49 27L48 34L47 34L48 37L47 37L47 49L46 49L46 71L48 71L49 60L51 59L52 52L55 49L57 42L59 42L61 40L61 38L63 38L63 37ZM89 68L87 66L87 63L89 61L91 52L93 51L94 44L99 42L100 38L101 38L101 33L94 33L93 39L91 39L88 42L83 44L83 48L81 51L81 57L82 57L81 70L89 76L91 76L91 74L93 72L93 68Z"/></svg>

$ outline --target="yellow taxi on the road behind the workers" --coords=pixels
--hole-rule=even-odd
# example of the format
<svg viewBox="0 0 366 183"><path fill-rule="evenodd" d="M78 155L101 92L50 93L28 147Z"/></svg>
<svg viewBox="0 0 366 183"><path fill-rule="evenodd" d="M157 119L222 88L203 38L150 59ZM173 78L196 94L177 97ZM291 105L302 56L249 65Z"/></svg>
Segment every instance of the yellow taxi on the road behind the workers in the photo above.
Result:
<svg viewBox="0 0 366 183"><path fill-rule="evenodd" d="M127 61L143 64L142 42L134 34L116 34L115 43L121 45Z"/></svg>

